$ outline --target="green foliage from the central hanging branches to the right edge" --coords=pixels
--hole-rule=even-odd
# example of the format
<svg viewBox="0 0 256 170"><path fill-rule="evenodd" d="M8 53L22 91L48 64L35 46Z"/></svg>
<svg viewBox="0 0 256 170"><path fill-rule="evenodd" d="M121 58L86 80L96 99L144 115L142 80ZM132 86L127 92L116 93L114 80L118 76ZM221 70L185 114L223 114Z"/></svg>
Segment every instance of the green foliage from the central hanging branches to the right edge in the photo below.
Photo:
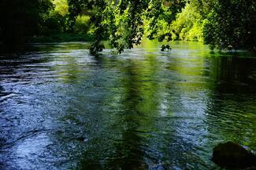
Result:
<svg viewBox="0 0 256 170"><path fill-rule="evenodd" d="M205 42L212 49L255 48L253 0L69 0L71 18L87 9L95 13L92 54L102 50L102 38L121 53L138 45L143 35L158 41Z"/></svg>

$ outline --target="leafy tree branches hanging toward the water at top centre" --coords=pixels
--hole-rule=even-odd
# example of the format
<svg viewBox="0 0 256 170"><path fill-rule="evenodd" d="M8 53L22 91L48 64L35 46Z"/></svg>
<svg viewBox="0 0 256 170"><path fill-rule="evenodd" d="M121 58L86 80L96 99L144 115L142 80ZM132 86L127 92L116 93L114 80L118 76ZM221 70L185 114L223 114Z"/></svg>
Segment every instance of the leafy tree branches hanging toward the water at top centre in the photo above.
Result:
<svg viewBox="0 0 256 170"><path fill-rule="evenodd" d="M95 42L90 52L96 55L104 48L101 44L103 38L121 53L125 48L131 49L139 45L144 34L144 20L154 18L148 23L149 38L154 38L158 27L154 27L158 20L165 20L168 24L175 19L176 13L184 7L185 1L180 0L69 0L69 25L72 27L76 16L83 10L92 10L91 16L94 25ZM165 10L167 13L162 13ZM165 37L169 34L163 34Z"/></svg>

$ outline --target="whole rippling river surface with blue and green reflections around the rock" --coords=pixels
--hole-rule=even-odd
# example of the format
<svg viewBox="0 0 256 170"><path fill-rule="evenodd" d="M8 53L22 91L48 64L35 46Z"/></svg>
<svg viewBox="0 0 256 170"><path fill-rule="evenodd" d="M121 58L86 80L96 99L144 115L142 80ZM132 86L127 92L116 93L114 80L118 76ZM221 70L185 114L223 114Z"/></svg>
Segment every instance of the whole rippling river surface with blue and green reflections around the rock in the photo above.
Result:
<svg viewBox="0 0 256 170"><path fill-rule="evenodd" d="M256 150L256 57L155 42L0 57L0 169L221 169L217 143Z"/></svg>

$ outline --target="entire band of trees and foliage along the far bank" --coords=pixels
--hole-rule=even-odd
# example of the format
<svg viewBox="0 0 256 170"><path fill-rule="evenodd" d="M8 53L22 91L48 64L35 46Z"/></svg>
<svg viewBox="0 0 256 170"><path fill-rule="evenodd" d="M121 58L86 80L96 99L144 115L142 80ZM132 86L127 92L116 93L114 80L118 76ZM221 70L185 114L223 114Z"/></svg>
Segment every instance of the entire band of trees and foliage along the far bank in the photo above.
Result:
<svg viewBox="0 0 256 170"><path fill-rule="evenodd" d="M102 40L121 53L142 38L255 50L254 0L2 0L0 45Z"/></svg>

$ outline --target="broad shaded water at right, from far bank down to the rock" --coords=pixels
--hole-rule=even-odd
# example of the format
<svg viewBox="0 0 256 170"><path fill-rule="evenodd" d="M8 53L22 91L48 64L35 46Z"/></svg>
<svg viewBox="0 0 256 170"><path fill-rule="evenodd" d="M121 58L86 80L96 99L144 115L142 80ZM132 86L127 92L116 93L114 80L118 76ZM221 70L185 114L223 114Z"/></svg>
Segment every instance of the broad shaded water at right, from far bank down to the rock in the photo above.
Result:
<svg viewBox="0 0 256 170"><path fill-rule="evenodd" d="M205 74L212 79L206 104L208 130L220 142L232 140L255 150L255 57L232 53L205 62L210 66Z"/></svg>

